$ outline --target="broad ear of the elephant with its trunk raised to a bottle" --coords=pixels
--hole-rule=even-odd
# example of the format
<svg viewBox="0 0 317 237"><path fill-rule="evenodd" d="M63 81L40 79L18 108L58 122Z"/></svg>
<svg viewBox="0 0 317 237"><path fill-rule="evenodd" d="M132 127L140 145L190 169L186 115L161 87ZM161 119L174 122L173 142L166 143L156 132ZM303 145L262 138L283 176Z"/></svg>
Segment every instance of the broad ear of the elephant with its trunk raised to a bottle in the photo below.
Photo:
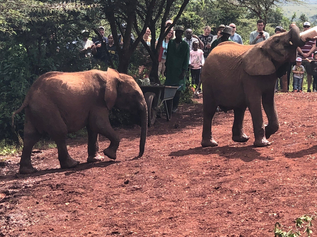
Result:
<svg viewBox="0 0 317 237"><path fill-rule="evenodd" d="M266 54L262 46L257 45L244 53L242 66L244 71L251 76L269 75L276 71L271 57Z"/></svg>

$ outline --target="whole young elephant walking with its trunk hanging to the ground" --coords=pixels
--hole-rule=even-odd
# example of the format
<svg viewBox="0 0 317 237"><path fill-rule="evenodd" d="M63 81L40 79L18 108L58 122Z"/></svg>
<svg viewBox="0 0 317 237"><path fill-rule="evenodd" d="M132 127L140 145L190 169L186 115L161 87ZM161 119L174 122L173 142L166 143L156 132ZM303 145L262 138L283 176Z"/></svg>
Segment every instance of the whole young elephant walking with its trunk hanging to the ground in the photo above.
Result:
<svg viewBox="0 0 317 237"><path fill-rule="evenodd" d="M25 110L23 150L20 174L37 170L31 164L34 144L44 132L55 141L61 168L73 168L75 161L68 154L68 133L87 127L87 162L102 161L98 154L99 134L110 140L103 153L116 159L120 138L109 122L109 111L116 106L138 113L141 120L139 156L145 149L147 106L143 93L133 77L108 68L106 72L91 70L76 73L49 72L41 75L30 87L22 106L12 114Z"/></svg>

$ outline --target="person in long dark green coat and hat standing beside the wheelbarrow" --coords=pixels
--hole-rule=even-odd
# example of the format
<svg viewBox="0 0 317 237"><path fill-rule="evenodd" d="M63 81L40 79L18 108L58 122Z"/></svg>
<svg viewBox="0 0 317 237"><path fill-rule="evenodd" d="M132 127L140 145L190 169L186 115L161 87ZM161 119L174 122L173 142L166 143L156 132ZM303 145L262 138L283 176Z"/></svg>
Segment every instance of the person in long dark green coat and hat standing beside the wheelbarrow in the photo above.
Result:
<svg viewBox="0 0 317 237"><path fill-rule="evenodd" d="M189 64L189 46L183 40L183 26L176 26L175 39L168 42L165 61L165 86L180 86L174 98L172 112L176 113L181 91L185 90L185 72Z"/></svg>

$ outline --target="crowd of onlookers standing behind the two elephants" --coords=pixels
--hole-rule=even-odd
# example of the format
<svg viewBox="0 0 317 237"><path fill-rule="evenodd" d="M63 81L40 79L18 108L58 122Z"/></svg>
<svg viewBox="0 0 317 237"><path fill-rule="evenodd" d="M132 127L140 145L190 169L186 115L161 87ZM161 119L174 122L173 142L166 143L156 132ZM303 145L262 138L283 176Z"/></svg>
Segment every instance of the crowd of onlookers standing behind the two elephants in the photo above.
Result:
<svg viewBox="0 0 317 237"><path fill-rule="evenodd" d="M172 24L171 20L165 22L166 29ZM289 25L289 29L295 26L295 23ZM267 40L270 35L268 32L263 31L264 21L258 20L256 23L257 29L250 33L249 44L254 45L259 42ZM126 24L121 25L123 32L125 32ZM204 66L204 61L210 54L211 50L217 47L218 44L226 41L233 41L238 44L243 44L242 38L236 33L236 24L230 23L229 25L220 24L216 29L217 35L210 34L211 27L205 26L202 35L195 35L192 29L184 29L183 26L175 26L172 28L160 46L159 54L159 77L165 78L165 85L179 86L179 90L176 93L173 100L172 112L177 112L180 92L185 88L185 72L191 72L191 83L196 85L196 94L201 92L200 74L201 68ZM303 31L310 29L310 23L303 23ZM82 40L80 49L81 54L86 57L92 56L95 59L101 61L109 61L117 59L117 50L113 42L112 35L108 37L104 36L104 28L100 26L98 32L101 37L93 37L92 40L88 40L89 32L82 32ZM281 26L275 28L275 34L286 32ZM184 35L185 33L185 35ZM146 33L143 36L143 40L150 46L151 44L151 31L146 29ZM183 35L185 37L183 37ZM123 45L123 37L119 35L119 45ZM101 43L101 39L104 44ZM134 42L133 34L131 34L131 44ZM156 44L158 39L156 40ZM295 62L289 64L287 74L283 75L276 81L275 92L278 92L279 88L282 92L289 91L289 81L291 73L293 73L293 91L302 92L302 79L303 74L307 72L307 92L311 92L311 85L313 92L317 92L317 51L316 41L309 41L302 47L297 48L297 58ZM143 53L146 55L146 52ZM147 60L139 66L139 74L147 69L150 71L152 63L147 54ZM148 76L148 75L147 75ZM187 78L189 79L189 78ZM312 79L313 83L312 83ZM279 86L280 83L280 86Z"/></svg>

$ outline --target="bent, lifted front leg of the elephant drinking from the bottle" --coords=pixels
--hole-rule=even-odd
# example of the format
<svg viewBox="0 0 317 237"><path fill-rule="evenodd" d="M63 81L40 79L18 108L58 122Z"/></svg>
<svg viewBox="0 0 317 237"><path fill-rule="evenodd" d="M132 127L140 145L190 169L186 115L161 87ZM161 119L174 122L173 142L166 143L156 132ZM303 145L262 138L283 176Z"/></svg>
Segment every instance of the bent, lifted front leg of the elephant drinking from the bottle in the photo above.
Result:
<svg viewBox="0 0 317 237"><path fill-rule="evenodd" d="M265 137L268 139L279 129L279 121L276 112L276 106L273 93L265 93L262 95L263 109L268 117L268 125L265 127Z"/></svg>

